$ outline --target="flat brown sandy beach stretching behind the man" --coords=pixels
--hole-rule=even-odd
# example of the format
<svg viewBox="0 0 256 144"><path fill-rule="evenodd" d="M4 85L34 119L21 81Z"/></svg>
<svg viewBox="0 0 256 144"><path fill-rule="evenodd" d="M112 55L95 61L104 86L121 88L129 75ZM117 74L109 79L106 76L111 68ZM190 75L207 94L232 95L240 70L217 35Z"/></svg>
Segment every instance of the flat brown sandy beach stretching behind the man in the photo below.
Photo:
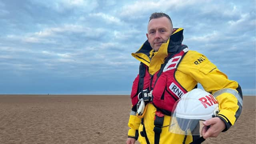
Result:
<svg viewBox="0 0 256 144"><path fill-rule="evenodd" d="M255 98L203 144L255 144ZM0 95L0 144L125 144L130 107L127 95Z"/></svg>

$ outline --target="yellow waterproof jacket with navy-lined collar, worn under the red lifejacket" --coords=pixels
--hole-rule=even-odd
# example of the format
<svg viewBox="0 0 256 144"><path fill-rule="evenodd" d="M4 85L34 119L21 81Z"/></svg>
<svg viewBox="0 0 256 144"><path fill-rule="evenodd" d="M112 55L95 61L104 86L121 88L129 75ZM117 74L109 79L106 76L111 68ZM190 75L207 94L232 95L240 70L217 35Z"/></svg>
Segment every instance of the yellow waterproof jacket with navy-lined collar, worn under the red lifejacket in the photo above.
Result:
<svg viewBox="0 0 256 144"><path fill-rule="evenodd" d="M182 40L183 29L179 28L170 36L166 44L162 44L158 52L153 52L148 41L146 41L136 53L132 53L132 56L146 64L149 67L149 73L154 74L160 69L164 59L170 53L170 47L180 45ZM220 112L218 117L226 124L224 131L228 130L240 116L242 112L242 91L240 86L236 81L228 80L228 77L203 54L189 50L178 65L175 78L187 91L192 90L197 83L200 83L204 90L214 95L219 103ZM155 112L156 108L149 103L144 115L144 126L150 144L154 144ZM170 118L170 116L164 116L159 143L182 144L184 135L173 134L168 131ZM141 119L136 116L134 111L130 113L128 126L130 127L128 137L138 138L141 144L146 144L145 137L140 135L143 127ZM192 141L192 136L188 136L185 143L189 144Z"/></svg>

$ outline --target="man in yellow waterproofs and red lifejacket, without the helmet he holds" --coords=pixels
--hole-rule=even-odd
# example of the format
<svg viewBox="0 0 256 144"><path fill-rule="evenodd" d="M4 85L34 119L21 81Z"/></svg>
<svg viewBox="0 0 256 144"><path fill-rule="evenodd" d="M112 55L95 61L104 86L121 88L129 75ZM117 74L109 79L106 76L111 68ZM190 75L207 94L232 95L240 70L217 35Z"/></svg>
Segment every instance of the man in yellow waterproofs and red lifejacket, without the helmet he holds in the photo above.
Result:
<svg viewBox="0 0 256 144"><path fill-rule="evenodd" d="M220 110L218 116L204 122L202 136L216 137L228 130L242 111L239 84L228 80L206 56L183 45L183 29L173 29L167 14L150 16L146 36L148 40L132 53L141 63L132 86L126 144L134 144L137 139L141 144L189 144L196 140L196 136L174 134L168 129L172 106L197 83L214 95ZM140 108L142 102L145 108Z"/></svg>

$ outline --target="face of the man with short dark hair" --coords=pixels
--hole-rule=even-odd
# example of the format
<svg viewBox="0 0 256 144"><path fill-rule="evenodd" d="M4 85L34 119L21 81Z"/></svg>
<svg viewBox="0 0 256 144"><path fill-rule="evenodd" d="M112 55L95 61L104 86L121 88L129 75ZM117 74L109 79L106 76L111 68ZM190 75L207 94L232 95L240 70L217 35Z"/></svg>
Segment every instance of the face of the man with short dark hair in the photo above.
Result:
<svg viewBox="0 0 256 144"><path fill-rule="evenodd" d="M168 41L172 31L172 24L168 18L161 17L150 20L146 35L153 50L157 52L160 46Z"/></svg>

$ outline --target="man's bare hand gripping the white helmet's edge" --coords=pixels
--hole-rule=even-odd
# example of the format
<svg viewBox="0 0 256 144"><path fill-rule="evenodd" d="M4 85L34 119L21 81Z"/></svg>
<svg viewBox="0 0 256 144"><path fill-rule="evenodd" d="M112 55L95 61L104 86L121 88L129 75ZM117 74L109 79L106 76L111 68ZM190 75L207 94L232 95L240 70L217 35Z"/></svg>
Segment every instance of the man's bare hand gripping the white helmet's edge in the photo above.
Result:
<svg viewBox="0 0 256 144"><path fill-rule="evenodd" d="M218 117L211 118L203 122L204 127L202 128L201 134L204 139L209 137L217 137L222 130L226 128L225 123ZM207 128L210 126L210 128Z"/></svg>

